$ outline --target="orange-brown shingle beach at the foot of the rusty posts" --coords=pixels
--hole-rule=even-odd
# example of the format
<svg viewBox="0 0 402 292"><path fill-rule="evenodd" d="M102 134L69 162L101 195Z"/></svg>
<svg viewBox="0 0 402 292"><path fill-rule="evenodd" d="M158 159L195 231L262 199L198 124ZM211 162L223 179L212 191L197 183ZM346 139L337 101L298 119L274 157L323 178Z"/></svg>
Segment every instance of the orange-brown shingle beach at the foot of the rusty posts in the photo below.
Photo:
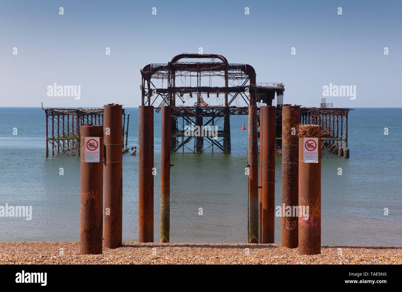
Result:
<svg viewBox="0 0 402 292"><path fill-rule="evenodd" d="M80 255L79 242L0 242L0 264L402 264L402 247L322 246L299 256L281 244L138 243Z"/></svg>

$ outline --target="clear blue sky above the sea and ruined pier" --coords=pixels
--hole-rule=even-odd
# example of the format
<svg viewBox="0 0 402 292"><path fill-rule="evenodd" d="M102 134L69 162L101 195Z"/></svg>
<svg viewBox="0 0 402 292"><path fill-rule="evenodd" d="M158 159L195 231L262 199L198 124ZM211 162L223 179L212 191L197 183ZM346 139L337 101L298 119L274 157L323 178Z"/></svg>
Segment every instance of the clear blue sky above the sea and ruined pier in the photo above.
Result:
<svg viewBox="0 0 402 292"><path fill-rule="evenodd" d="M402 1L3 0L0 106L137 107L140 69L202 47L283 83L284 103L318 106L332 83L356 88L326 97L334 107L402 107L401 13ZM54 83L80 99L48 96Z"/></svg>

